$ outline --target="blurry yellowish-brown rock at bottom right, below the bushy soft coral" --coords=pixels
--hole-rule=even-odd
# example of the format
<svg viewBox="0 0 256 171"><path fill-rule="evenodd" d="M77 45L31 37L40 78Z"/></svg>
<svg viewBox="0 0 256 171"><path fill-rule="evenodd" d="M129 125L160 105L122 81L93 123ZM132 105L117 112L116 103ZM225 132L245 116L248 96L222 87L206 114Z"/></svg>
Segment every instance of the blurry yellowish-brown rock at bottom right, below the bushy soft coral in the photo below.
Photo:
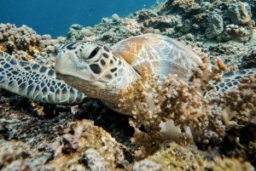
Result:
<svg viewBox="0 0 256 171"><path fill-rule="evenodd" d="M213 158L207 161L207 158ZM220 158L208 152L196 150L195 146L180 146L175 143L161 145L158 155L136 162L132 170L247 170L254 168L241 158Z"/></svg>

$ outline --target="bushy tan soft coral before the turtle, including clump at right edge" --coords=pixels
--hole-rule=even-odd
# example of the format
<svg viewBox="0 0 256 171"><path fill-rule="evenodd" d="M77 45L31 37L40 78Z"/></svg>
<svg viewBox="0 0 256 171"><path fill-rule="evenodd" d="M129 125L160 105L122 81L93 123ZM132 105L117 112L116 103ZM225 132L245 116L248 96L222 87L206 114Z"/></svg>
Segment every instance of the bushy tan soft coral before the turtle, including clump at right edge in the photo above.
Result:
<svg viewBox="0 0 256 171"><path fill-rule="evenodd" d="M131 141L140 147L137 158L153 154L164 140L217 145L224 138L224 123L234 117L228 111L236 111L237 116L244 116L245 111L247 117L255 116L255 76L242 78L238 90L216 94L209 83L220 82L219 74L229 69L220 59L212 69L206 56L202 60L189 83L177 81L175 75L160 83L159 77L144 68L141 78L120 91L119 107L126 113L132 111L135 117L130 124L135 128ZM223 117L228 120L223 122Z"/></svg>

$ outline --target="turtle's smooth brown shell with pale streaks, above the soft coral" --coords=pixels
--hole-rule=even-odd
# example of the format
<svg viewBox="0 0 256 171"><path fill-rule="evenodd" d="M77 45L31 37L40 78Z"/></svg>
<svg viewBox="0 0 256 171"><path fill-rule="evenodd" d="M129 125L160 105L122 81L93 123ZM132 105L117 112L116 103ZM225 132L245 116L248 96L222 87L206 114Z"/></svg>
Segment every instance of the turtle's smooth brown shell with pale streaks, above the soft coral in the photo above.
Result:
<svg viewBox="0 0 256 171"><path fill-rule="evenodd" d="M191 69L201 63L201 57L182 43L152 33L129 37L114 44L112 49L139 73L146 66L149 72L160 77L171 73L187 80L192 74Z"/></svg>

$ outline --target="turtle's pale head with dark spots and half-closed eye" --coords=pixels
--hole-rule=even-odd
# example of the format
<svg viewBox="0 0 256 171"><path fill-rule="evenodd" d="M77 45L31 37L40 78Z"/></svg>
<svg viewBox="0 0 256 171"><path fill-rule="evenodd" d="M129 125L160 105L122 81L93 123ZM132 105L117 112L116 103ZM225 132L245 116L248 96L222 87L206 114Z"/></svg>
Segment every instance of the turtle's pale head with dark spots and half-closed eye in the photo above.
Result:
<svg viewBox="0 0 256 171"><path fill-rule="evenodd" d="M125 65L128 65L125 60L107 46L79 41L60 48L55 71L67 84L84 92L85 88L118 86L125 77Z"/></svg>

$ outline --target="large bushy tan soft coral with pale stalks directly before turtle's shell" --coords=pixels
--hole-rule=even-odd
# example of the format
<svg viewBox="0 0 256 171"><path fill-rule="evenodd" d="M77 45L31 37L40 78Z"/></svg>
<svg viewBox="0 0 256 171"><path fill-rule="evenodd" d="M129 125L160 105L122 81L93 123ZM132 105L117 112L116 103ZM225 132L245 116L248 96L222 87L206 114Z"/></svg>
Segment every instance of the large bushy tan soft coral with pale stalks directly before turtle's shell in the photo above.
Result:
<svg viewBox="0 0 256 171"><path fill-rule="evenodd" d="M183 138L185 142L192 138L203 143L222 140L224 125L220 109L218 105L208 105L210 102L203 93L209 89L207 83L210 80L220 81L218 73L227 68L221 60L217 60L217 66L210 71L210 61L207 57L203 61L194 71L189 84L177 81L175 75L169 75L159 83L159 77L149 75L144 68L141 78L132 83L127 91L121 90L120 109L125 113L132 111L136 118L130 123L135 128L132 142L141 147L137 155L152 154L166 140L165 136L178 141ZM140 130L142 126L144 131Z"/></svg>

